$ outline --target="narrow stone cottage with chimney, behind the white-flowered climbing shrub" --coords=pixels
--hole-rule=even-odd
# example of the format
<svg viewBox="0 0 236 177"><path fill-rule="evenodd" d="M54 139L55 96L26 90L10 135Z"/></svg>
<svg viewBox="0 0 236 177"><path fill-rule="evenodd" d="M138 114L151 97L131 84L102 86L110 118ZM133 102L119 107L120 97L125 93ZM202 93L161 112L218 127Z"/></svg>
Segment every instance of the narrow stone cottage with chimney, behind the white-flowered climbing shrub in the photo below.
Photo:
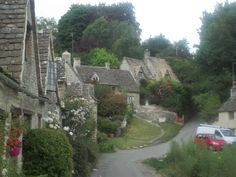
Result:
<svg viewBox="0 0 236 177"><path fill-rule="evenodd" d="M64 52L61 58L56 59L57 82L61 106L64 107L65 99L84 98L92 108L92 117L97 122L97 101L94 97L94 86L90 83L83 83L75 70L80 63L76 58L71 62L71 54ZM73 67L74 66L74 67ZM93 139L96 141L97 129L95 128Z"/></svg>

